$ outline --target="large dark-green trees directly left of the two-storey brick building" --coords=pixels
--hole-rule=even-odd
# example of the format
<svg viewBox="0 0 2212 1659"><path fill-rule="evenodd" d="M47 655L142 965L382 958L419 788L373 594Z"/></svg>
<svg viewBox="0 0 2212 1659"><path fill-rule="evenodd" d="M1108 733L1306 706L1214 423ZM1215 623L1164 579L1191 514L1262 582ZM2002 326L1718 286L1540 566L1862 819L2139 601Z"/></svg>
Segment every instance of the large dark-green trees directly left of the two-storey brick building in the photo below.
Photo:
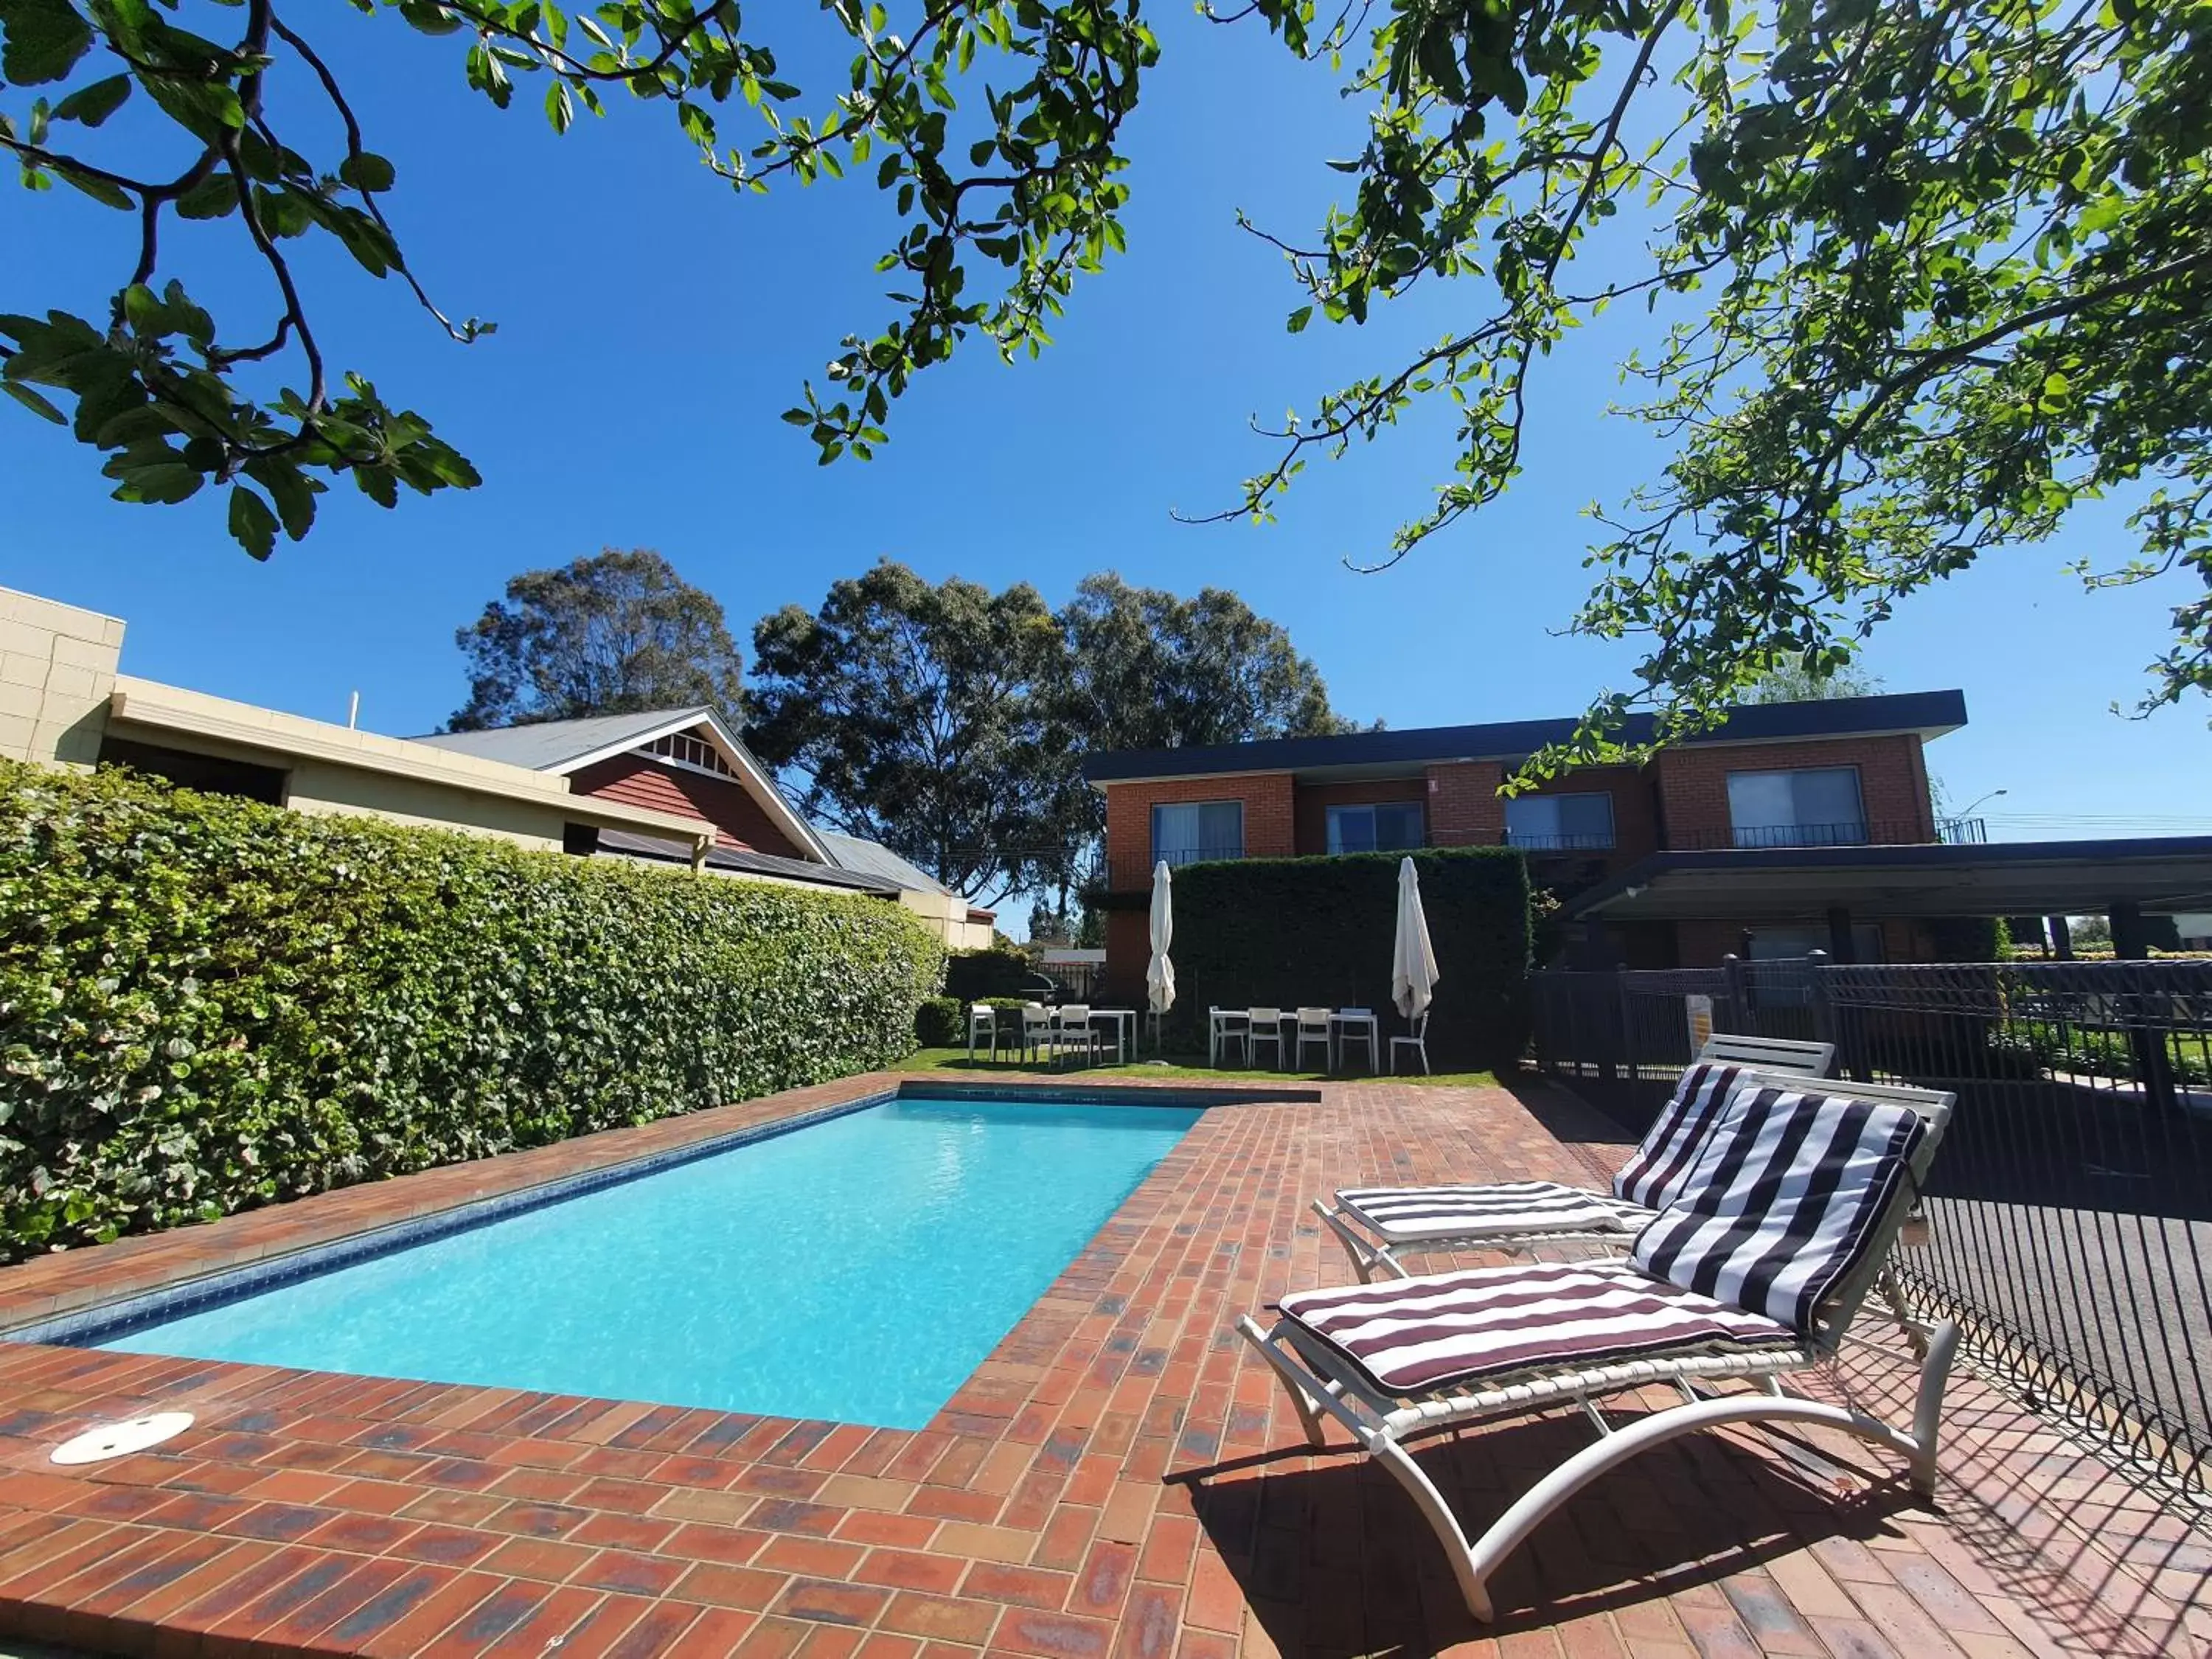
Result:
<svg viewBox="0 0 2212 1659"><path fill-rule="evenodd" d="M969 898L1057 894L1099 834L1086 754L1349 730L1290 635L1232 593L1093 575L1057 615L1029 584L936 586L880 562L818 613L752 630L748 743L801 807Z"/></svg>

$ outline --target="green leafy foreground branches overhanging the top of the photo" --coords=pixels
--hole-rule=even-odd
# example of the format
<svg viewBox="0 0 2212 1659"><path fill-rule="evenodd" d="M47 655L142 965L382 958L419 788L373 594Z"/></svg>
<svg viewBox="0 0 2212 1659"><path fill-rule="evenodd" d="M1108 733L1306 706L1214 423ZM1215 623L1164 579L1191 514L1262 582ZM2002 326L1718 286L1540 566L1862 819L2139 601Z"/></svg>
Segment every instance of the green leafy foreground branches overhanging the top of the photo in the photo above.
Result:
<svg viewBox="0 0 2212 1659"><path fill-rule="evenodd" d="M962 338L1046 343L1075 276L1124 241L1121 126L1159 53L1137 0L896 18L830 0L849 75L803 91L763 33L787 13L737 0L356 4L453 35L500 106L529 82L557 131L628 91L739 188L872 175L898 217L891 321L847 336L787 416L823 460L872 453L891 398ZM2137 546L2084 577L2208 588L2174 606L2143 708L2212 690L2203 0L1245 0L1232 18L1334 66L1369 111L1318 232L1265 232L1303 288L1292 332L1365 323L1422 281L1469 296L1444 338L1281 429L1228 515L1267 515L1310 458L1438 400L1458 471L1378 551L1402 557L1513 482L1528 394L1571 330L1621 303L1679 319L1630 361L1637 411L1677 456L1601 513L1577 617L1644 639L1639 679L1546 765L1613 752L1632 701L1674 732L1785 657L1825 675L1907 595L2112 491L2137 502ZM66 184L142 230L104 307L0 319L0 385L108 451L126 500L228 484L261 555L305 533L330 478L385 502L476 482L427 420L323 361L296 237L431 301L383 210L389 161L279 0L0 0L0 77L24 93L0 148L31 188ZM272 77L321 97L343 148L294 148ZM100 148L137 93L179 157ZM268 263L270 323L219 327L170 279L164 228L217 217Z"/></svg>

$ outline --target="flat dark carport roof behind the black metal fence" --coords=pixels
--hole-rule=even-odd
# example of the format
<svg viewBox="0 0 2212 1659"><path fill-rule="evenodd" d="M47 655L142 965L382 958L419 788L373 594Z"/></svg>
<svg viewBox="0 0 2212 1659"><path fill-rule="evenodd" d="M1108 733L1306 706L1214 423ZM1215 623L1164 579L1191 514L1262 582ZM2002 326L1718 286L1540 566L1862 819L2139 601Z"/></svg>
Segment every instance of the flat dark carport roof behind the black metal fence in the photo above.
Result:
<svg viewBox="0 0 2212 1659"><path fill-rule="evenodd" d="M2135 902L2212 909L2212 836L2002 841L1960 847L1657 852L1566 907L1577 922L2059 916Z"/></svg>

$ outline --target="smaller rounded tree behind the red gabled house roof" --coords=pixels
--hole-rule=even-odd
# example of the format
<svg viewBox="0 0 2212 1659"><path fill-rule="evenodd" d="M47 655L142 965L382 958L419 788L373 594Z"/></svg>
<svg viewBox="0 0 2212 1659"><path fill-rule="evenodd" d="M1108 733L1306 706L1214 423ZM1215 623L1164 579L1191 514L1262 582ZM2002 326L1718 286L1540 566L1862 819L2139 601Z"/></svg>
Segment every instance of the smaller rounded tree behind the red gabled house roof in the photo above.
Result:
<svg viewBox="0 0 2212 1659"><path fill-rule="evenodd" d="M721 604L650 549L524 571L453 635L469 701L449 730L708 703L739 712L739 655Z"/></svg>

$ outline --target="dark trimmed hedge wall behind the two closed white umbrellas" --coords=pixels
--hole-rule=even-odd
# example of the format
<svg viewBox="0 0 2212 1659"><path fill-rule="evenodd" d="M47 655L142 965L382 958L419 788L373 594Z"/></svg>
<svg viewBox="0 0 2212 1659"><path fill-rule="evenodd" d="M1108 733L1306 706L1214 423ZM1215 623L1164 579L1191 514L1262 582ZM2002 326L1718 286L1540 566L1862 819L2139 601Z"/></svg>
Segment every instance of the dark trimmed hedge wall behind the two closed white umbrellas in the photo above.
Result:
<svg viewBox="0 0 2212 1659"><path fill-rule="evenodd" d="M1181 1040L1206 1046L1210 1004L1367 1006L1385 1040L1405 1031L1389 1000L1405 856L1177 869L1170 958ZM1528 865L1513 847L1425 847L1411 858L1438 969L1429 1060L1438 1071L1506 1066L1528 1040Z"/></svg>

